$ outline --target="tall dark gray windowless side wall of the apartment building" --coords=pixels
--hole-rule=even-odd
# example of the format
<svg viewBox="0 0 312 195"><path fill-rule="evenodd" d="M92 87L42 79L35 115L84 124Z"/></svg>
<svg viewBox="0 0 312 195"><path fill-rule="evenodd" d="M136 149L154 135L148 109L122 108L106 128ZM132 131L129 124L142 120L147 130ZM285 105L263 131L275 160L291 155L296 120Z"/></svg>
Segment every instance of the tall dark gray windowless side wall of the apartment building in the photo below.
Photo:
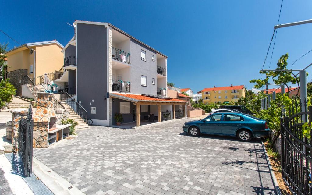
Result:
<svg viewBox="0 0 312 195"><path fill-rule="evenodd" d="M81 101L88 118L107 120L107 30L83 23L76 28L77 102ZM91 106L96 114L91 114Z"/></svg>

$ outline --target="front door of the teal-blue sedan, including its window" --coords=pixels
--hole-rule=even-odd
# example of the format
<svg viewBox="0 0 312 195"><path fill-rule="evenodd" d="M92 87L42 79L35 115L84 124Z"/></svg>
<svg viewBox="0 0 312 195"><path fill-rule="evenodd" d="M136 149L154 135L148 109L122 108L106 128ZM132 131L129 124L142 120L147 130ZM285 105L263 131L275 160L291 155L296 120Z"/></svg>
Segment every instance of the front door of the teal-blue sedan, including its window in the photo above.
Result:
<svg viewBox="0 0 312 195"><path fill-rule="evenodd" d="M212 115L205 119L202 124L202 133L221 134L221 118L222 114Z"/></svg>

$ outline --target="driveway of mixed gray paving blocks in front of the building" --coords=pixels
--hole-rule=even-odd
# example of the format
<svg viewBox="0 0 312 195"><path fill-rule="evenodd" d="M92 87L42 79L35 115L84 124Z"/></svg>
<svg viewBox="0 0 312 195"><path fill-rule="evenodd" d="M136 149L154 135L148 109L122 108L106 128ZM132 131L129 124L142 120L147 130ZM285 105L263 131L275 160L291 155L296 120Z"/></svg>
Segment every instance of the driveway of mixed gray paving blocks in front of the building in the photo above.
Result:
<svg viewBox="0 0 312 195"><path fill-rule="evenodd" d="M189 120L92 126L34 156L85 194L274 194L260 140L191 137Z"/></svg>

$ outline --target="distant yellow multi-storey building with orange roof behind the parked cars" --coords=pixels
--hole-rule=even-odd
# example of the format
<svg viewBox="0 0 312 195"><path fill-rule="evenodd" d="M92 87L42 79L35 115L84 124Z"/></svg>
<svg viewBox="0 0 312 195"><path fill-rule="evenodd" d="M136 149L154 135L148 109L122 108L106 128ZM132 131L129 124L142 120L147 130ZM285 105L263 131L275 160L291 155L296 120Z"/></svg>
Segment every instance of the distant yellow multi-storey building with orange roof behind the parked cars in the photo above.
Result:
<svg viewBox="0 0 312 195"><path fill-rule="evenodd" d="M209 103L224 103L224 102L237 102L241 97L245 97L245 86L236 85L228 87L211 87L205 88L202 91L202 102Z"/></svg>

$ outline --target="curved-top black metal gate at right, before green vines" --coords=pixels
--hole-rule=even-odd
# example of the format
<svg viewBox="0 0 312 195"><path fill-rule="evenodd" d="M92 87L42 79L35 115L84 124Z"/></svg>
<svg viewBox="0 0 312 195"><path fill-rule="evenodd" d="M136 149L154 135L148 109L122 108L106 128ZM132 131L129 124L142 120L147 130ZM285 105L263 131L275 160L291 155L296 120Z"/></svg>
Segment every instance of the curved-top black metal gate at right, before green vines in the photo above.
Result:
<svg viewBox="0 0 312 195"><path fill-rule="evenodd" d="M296 194L310 195L312 133L305 131L304 121L308 121L308 116L311 121L312 106L309 106L309 112L300 112L301 105L295 100L287 110L290 117L281 118L280 121L282 177Z"/></svg>

